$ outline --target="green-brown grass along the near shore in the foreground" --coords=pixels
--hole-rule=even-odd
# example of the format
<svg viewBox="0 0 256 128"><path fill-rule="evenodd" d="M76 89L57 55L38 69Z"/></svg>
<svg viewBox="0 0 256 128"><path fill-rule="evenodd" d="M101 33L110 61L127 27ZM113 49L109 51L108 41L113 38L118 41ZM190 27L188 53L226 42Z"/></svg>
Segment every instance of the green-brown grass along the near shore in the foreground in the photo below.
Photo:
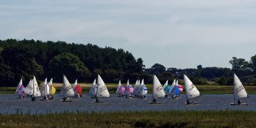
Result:
<svg viewBox="0 0 256 128"><path fill-rule="evenodd" d="M256 127L256 111L112 111L0 114L0 127Z"/></svg>

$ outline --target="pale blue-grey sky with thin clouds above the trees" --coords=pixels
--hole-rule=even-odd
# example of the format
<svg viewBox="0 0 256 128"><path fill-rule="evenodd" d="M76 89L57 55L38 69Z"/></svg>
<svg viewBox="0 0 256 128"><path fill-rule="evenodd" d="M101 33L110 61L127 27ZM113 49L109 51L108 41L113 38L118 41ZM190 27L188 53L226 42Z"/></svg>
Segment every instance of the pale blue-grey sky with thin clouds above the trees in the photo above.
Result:
<svg viewBox="0 0 256 128"><path fill-rule="evenodd" d="M0 40L124 49L146 68L228 67L256 54L253 0L1 0Z"/></svg>

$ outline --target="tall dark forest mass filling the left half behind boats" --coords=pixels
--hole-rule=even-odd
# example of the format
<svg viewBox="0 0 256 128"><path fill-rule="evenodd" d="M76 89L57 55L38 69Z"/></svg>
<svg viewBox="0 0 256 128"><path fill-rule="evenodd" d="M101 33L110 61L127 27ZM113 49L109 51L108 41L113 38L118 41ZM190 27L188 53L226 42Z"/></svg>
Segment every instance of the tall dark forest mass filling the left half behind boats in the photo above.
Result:
<svg viewBox="0 0 256 128"><path fill-rule="evenodd" d="M106 83L152 77L143 72L141 58L136 59L123 49L25 39L0 40L0 47L1 86L17 86L20 78L28 83L34 75L40 80L53 77L54 82L60 83L63 74L70 82L79 79L80 83L92 83L97 74Z"/></svg>

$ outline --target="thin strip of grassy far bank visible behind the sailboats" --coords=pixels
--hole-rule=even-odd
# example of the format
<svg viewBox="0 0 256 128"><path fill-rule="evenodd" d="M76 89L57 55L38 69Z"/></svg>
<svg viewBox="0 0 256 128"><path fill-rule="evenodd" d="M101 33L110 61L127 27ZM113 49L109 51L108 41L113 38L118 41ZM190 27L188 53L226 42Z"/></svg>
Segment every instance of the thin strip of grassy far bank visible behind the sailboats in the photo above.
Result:
<svg viewBox="0 0 256 128"><path fill-rule="evenodd" d="M54 83L56 85L56 93L60 93L61 83ZM82 86L83 93L88 93L90 90L91 83L79 84ZM116 93L116 88L118 84L106 84L109 93ZM134 84L131 84L134 86ZM152 84L145 84L148 88L148 93L152 93ZM234 92L233 86L216 86L216 85L196 85L201 94L232 94ZM256 94L256 86L244 86L248 94ZM1 87L0 93L15 93L15 87ZM184 93L184 92L181 92Z"/></svg>

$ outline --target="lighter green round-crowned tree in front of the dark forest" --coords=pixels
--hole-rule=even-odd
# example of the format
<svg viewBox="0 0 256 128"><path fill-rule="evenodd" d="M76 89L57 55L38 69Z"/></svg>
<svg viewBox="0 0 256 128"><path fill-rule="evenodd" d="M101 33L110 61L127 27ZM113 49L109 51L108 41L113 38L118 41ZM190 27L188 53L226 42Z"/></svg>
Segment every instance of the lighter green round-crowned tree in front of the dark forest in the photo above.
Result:
<svg viewBox="0 0 256 128"><path fill-rule="evenodd" d="M76 55L67 52L55 56L49 63L49 70L49 76L58 82L63 81L63 74L70 76L70 81L79 79L81 82L86 81L91 74Z"/></svg>

